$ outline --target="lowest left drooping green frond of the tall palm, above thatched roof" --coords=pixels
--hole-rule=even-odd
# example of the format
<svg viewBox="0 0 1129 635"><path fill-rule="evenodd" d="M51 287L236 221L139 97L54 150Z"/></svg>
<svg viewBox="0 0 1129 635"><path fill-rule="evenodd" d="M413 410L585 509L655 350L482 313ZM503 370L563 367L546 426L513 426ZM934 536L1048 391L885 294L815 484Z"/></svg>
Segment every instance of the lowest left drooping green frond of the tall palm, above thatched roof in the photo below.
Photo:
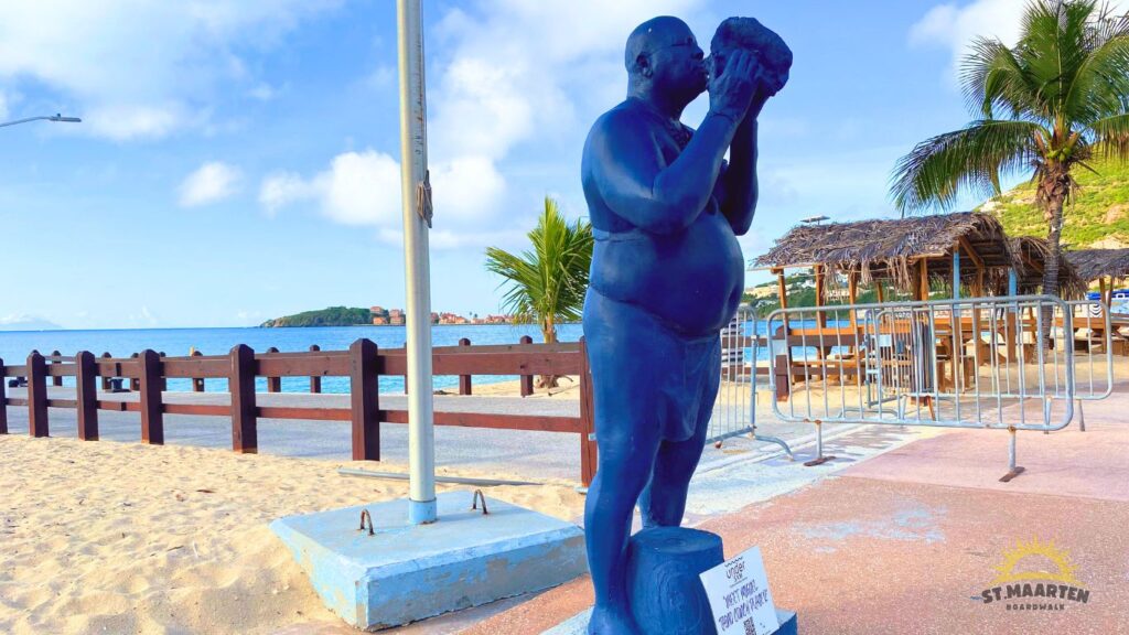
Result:
<svg viewBox="0 0 1129 635"><path fill-rule="evenodd" d="M918 143L894 168L894 206L903 214L947 209L962 186L997 193L1001 172L1025 169L1036 158L1034 139L1041 131L1026 121L982 120Z"/></svg>

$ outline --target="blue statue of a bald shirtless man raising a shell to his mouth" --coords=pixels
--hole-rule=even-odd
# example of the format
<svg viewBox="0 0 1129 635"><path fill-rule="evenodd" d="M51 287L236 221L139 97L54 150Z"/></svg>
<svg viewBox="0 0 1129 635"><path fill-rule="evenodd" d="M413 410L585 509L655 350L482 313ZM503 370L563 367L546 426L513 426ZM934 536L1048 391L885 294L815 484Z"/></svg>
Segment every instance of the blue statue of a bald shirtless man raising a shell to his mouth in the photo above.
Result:
<svg viewBox="0 0 1129 635"><path fill-rule="evenodd" d="M727 46L738 31L729 37L723 24L708 64L682 20L636 28L628 98L596 121L584 149L595 235L584 334L599 444L585 508L589 633L638 632L624 566L632 511L638 502L645 527L681 523L718 391L718 333L741 302L736 237L756 207L756 116L787 72L749 45ZM707 88L709 114L692 130L682 111Z"/></svg>

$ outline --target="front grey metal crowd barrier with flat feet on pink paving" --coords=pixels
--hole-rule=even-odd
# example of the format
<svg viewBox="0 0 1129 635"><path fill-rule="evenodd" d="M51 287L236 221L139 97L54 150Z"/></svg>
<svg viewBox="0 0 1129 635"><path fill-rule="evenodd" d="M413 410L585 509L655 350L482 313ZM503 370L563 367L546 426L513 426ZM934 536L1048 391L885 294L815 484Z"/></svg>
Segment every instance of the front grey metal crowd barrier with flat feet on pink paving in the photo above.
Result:
<svg viewBox="0 0 1129 635"><path fill-rule="evenodd" d="M1010 433L1010 478L1022 471L1017 430L1062 429L1076 402L1104 399L1113 385L1110 319L1088 301L786 308L768 316L767 333L773 411L816 426L811 464L830 459L825 423L994 428Z"/></svg>

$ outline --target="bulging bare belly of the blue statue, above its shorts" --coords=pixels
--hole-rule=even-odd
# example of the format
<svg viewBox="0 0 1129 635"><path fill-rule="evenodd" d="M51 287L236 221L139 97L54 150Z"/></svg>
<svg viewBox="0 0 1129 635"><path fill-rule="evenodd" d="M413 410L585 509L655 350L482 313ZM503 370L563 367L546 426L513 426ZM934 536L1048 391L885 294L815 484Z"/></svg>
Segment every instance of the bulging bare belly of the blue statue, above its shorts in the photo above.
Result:
<svg viewBox="0 0 1129 635"><path fill-rule="evenodd" d="M706 334L736 312L744 269L728 220L708 212L673 236L632 233L596 241L592 285L686 334Z"/></svg>

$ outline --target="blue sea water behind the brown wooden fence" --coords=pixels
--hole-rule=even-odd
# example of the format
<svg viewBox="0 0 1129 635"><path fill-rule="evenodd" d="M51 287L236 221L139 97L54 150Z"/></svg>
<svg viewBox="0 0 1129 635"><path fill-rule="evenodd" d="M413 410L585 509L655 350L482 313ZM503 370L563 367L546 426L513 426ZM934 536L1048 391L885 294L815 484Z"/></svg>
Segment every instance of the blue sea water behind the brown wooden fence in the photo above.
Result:
<svg viewBox="0 0 1129 635"><path fill-rule="evenodd" d="M557 337L560 341L579 341L580 324L560 324ZM522 336L530 336L534 342L542 341L541 331L533 324L437 324L431 328L432 346L455 346L461 338L472 345L517 343ZM231 347L245 343L256 353L274 347L283 353L309 350L316 343L322 350L345 350L359 338L368 338L380 348L402 348L406 341L404 327L307 327L291 329L129 329L98 331L9 331L0 332L0 359L17 365L27 360L32 350L49 355L58 350L63 355L75 355L89 350L95 356L110 353L114 357L129 357L147 348L165 353L170 357L183 357L195 348L203 355L227 355ZM517 379L516 375L475 375L474 383L493 383ZM435 388L458 386L457 376L436 376ZM266 391L266 380L260 379L257 390ZM71 377L64 377L63 385L73 385ZM227 391L227 381L208 380L209 392ZM168 390L191 390L190 380L169 380ZM403 392L403 377L382 376L380 392ZM283 377L283 392L308 392L309 380ZM349 392L348 377L323 377L323 392Z"/></svg>

